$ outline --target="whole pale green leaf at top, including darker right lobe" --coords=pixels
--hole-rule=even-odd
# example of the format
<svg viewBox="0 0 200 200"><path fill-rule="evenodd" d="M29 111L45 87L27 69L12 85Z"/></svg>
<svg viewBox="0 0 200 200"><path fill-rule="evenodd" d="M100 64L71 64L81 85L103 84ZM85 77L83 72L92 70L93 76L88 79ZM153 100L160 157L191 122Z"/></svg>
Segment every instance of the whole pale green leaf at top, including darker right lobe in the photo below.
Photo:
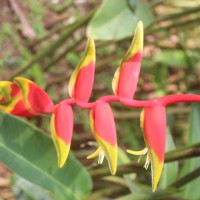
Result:
<svg viewBox="0 0 200 200"><path fill-rule="evenodd" d="M88 25L88 35L97 40L120 40L133 36L139 20L145 25L153 21L148 3L135 1L134 12L126 0L104 0Z"/></svg>

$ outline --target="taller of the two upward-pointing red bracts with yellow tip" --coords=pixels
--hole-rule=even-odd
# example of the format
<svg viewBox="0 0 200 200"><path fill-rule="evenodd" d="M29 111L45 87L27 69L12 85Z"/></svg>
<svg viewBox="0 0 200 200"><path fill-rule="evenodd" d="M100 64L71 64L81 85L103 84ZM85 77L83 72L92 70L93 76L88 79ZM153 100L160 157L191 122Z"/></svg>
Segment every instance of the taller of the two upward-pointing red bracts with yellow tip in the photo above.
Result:
<svg viewBox="0 0 200 200"><path fill-rule="evenodd" d="M126 52L121 65L115 72L112 88L114 94L120 97L133 98L135 93L143 52L143 23L136 27L131 46Z"/></svg>

